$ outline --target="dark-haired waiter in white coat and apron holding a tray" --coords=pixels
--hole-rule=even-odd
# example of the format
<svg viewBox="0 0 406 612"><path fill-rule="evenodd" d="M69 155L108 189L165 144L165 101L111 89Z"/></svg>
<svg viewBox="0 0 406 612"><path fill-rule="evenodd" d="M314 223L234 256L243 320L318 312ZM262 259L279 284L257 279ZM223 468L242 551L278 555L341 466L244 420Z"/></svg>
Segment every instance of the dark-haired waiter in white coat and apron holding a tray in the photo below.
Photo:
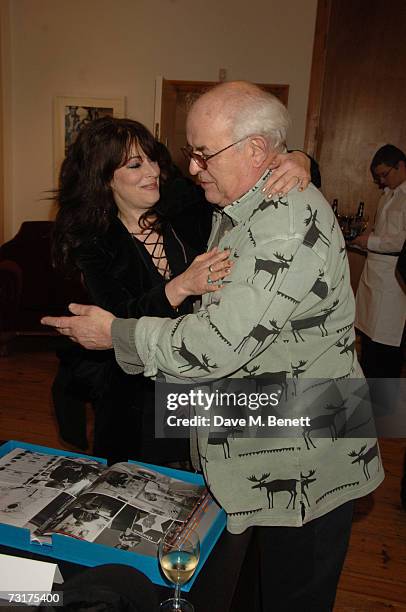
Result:
<svg viewBox="0 0 406 612"><path fill-rule="evenodd" d="M368 250L356 296L355 326L362 332L365 376L397 378L406 317L406 295L395 272L406 239L406 155L387 144L375 153L370 170L383 195L372 231L352 242Z"/></svg>

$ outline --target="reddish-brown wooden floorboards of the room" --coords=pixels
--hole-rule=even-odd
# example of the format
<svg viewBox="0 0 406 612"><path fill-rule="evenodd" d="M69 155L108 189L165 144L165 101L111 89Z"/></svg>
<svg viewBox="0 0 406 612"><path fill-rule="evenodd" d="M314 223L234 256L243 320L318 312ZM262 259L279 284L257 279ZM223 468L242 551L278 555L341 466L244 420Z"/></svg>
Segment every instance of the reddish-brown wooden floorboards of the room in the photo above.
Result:
<svg viewBox="0 0 406 612"><path fill-rule="evenodd" d="M72 450L58 438L53 417L57 360L49 340L21 338L11 348L0 358L0 437ZM335 612L406 611L406 512L399 501L405 448L404 439L381 440L386 478L357 502Z"/></svg>

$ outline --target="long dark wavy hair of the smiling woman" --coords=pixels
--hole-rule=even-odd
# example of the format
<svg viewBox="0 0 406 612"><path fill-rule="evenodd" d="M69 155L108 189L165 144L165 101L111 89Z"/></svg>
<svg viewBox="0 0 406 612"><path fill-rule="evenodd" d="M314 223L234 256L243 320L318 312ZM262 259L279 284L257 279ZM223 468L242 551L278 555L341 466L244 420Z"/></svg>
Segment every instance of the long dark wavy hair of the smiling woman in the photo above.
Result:
<svg viewBox="0 0 406 612"><path fill-rule="evenodd" d="M95 119L82 128L69 147L55 193L54 266L72 271L76 268L75 249L108 230L118 213L110 183L134 146L158 162L164 179L170 174L157 141L142 123L131 119ZM163 219L157 202L142 215L140 223L160 232Z"/></svg>

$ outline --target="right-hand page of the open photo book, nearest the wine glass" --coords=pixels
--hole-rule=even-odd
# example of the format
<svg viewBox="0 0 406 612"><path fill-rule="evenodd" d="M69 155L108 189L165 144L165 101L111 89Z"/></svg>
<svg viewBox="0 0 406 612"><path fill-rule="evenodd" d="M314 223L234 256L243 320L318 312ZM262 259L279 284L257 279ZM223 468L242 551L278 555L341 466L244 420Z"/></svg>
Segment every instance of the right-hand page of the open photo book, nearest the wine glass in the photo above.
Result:
<svg viewBox="0 0 406 612"><path fill-rule="evenodd" d="M204 492L201 485L141 466L115 464L58 513L43 533L156 556L162 535L173 525L182 527Z"/></svg>

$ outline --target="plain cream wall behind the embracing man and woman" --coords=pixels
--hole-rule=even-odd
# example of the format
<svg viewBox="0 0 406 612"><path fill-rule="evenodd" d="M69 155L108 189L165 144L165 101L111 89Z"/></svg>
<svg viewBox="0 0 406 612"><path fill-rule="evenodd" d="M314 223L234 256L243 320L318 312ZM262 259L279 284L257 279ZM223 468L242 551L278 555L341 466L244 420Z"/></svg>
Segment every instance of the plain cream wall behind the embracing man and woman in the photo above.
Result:
<svg viewBox="0 0 406 612"><path fill-rule="evenodd" d="M302 147L317 0L6 0L12 142L6 238L46 219L56 95L127 99L153 123L155 76L288 83L289 145ZM12 146L11 146L12 145ZM7 234L9 234L7 236Z"/></svg>

